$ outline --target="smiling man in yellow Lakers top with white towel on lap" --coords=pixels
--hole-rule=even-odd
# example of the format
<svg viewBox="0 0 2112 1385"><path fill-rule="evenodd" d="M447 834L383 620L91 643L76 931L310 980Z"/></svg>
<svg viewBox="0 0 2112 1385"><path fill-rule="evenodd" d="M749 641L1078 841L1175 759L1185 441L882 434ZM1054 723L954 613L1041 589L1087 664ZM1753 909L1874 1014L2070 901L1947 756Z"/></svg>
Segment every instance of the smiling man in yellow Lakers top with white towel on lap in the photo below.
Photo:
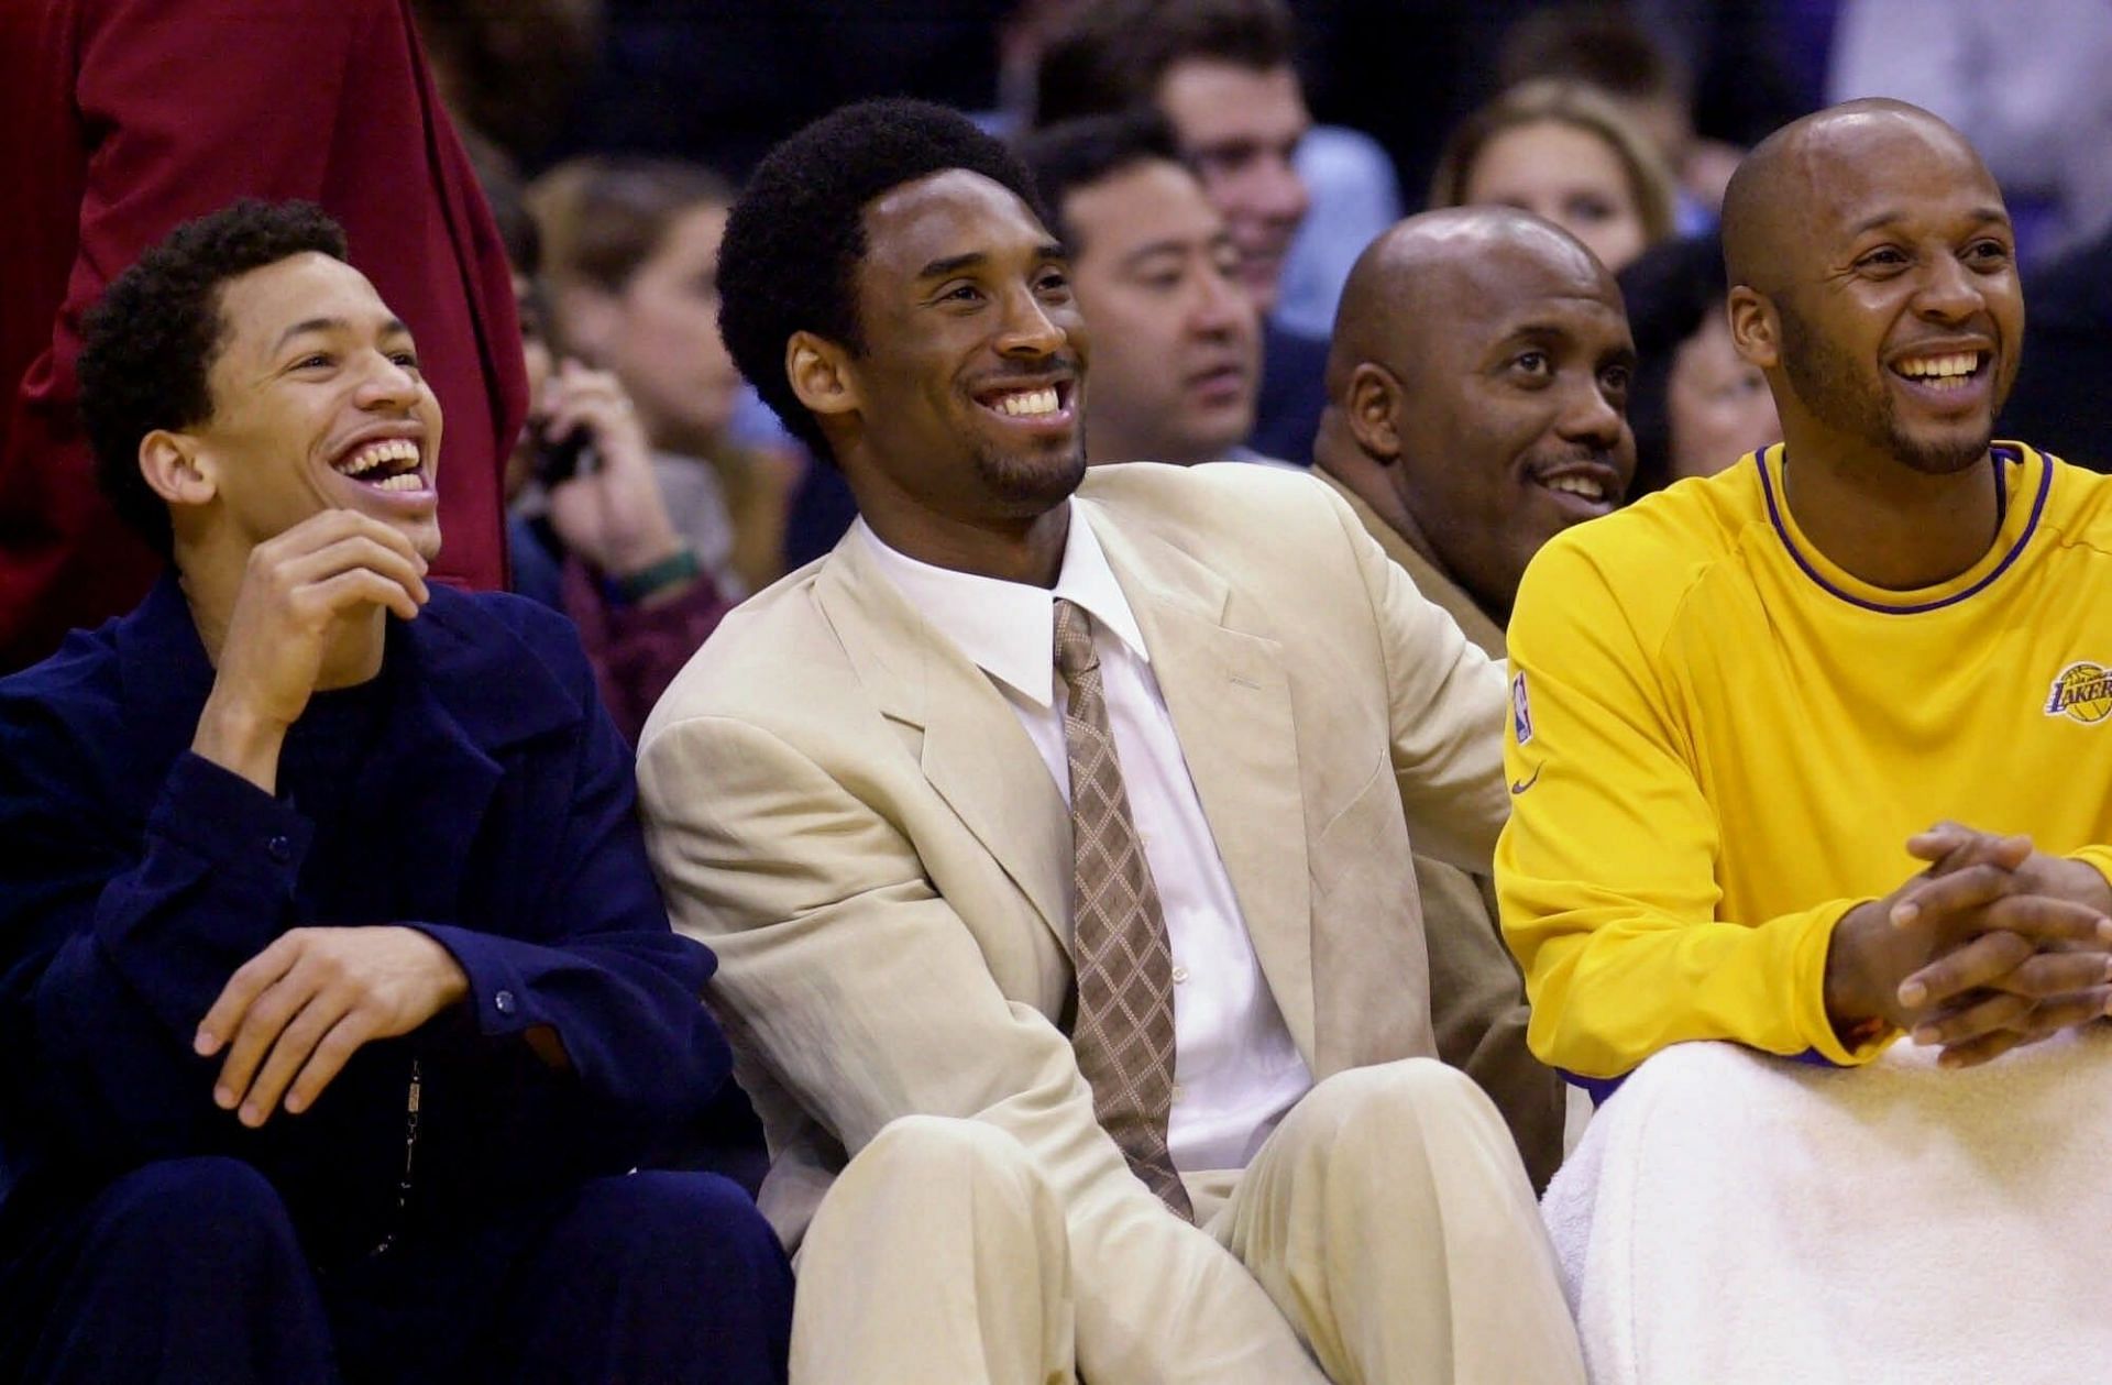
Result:
<svg viewBox="0 0 2112 1385"><path fill-rule="evenodd" d="M1990 1244L2044 1269L2070 1241L2028 1229L2091 1220L2101 1178L2055 1174L2076 1174L2074 1121L2112 1121L2108 1083L2059 1083L2112 1047L2036 1049L2000 1085L1958 1068L2106 1011L2112 486L1992 441L2023 338L2013 234L1935 116L1859 101L1785 127L1723 234L1732 336L1785 443L1557 536L1510 623L1497 885L1533 1051L1586 1079L1662 1054L1548 1220L1595 1379L1913 1379L1909 1358L2017 1379L1962 1362L2017 1341L2068 1360L2104 1330L2019 1339L1977 1296L1960 1341L1945 1286ZM1854 1079L1753 1054L1852 1066L1903 1032L1926 1051ZM1742 1047L1687 1043L1709 1039ZM2068 1203L2034 1222L2040 1189ZM1968 1206L1987 1216L1964 1229ZM1869 1292L1937 1277L1850 1326L1829 1313L1856 1286L1827 1265ZM1709 1324L1738 1351L1711 1355Z"/></svg>

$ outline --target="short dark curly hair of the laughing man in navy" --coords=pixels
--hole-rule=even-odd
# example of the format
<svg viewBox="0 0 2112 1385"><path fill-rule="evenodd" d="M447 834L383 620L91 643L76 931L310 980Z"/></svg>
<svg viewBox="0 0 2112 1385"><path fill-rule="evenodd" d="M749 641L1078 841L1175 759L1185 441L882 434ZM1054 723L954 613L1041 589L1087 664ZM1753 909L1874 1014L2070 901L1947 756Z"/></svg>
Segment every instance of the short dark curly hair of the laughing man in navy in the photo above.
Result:
<svg viewBox="0 0 2112 1385"><path fill-rule="evenodd" d="M207 376L226 344L220 287L317 251L346 260L344 228L315 203L243 198L184 222L110 281L80 325L80 424L95 481L167 557L169 507L139 475L139 441L213 416Z"/></svg>

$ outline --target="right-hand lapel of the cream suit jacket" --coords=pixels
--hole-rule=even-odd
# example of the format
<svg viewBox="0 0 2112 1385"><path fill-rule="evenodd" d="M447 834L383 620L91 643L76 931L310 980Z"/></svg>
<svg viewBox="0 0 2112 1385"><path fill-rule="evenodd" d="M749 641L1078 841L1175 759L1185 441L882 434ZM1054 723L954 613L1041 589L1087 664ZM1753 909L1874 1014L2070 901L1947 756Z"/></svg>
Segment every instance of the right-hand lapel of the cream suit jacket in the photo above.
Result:
<svg viewBox="0 0 2112 1385"><path fill-rule="evenodd" d="M1187 553L1128 536L1077 500L1145 633L1151 676L1231 876L1269 992L1299 1051L1314 1054L1312 887L1305 796L1282 646L1242 629L1231 589Z"/></svg>

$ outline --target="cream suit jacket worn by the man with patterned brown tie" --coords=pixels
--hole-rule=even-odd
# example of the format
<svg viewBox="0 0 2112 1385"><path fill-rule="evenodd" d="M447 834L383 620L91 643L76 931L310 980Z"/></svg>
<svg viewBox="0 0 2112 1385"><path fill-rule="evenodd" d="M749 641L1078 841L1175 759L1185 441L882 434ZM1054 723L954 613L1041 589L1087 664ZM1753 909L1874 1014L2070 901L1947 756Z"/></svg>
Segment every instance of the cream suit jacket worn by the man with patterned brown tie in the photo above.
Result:
<svg viewBox="0 0 2112 1385"><path fill-rule="evenodd" d="M1071 521L1136 612L1314 1077L1434 1056L1409 840L1489 861L1502 669L1309 475L1096 467ZM646 722L640 790L670 912L720 956L712 1003L788 1244L883 1125L974 1117L1067 1208L1083 1377L1265 1379L1257 1362L1297 1349L1094 1121L1064 1028L1064 800L991 680L855 538L727 616Z"/></svg>

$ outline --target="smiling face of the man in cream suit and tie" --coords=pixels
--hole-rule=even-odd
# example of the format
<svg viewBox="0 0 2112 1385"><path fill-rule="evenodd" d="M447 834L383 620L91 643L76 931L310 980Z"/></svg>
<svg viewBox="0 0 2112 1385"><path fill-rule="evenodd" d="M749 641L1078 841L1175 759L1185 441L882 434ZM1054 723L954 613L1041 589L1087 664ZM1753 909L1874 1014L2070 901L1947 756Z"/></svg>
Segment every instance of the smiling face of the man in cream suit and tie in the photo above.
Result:
<svg viewBox="0 0 2112 1385"><path fill-rule="evenodd" d="M860 509L904 536L1010 530L1062 505L1086 475L1088 355L1062 247L1014 192L965 169L876 196L864 228L864 350L830 348L841 384L824 391L800 386L794 365Z"/></svg>

